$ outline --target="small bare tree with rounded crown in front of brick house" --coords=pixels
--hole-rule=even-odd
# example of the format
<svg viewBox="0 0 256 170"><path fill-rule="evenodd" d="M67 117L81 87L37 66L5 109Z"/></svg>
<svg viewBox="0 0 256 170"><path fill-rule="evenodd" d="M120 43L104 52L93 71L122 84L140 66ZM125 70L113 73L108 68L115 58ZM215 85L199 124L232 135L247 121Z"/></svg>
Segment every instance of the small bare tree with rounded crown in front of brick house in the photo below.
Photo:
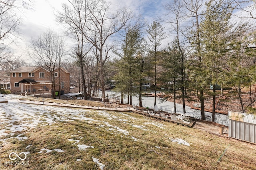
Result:
<svg viewBox="0 0 256 170"><path fill-rule="evenodd" d="M31 46L28 49L30 58L38 65L46 67L50 71L53 98L56 98L56 80L54 72L58 67L60 69L61 59L64 57L65 53L64 39L54 33L52 29L42 33L37 39L32 39ZM60 84L58 86L60 86Z"/></svg>

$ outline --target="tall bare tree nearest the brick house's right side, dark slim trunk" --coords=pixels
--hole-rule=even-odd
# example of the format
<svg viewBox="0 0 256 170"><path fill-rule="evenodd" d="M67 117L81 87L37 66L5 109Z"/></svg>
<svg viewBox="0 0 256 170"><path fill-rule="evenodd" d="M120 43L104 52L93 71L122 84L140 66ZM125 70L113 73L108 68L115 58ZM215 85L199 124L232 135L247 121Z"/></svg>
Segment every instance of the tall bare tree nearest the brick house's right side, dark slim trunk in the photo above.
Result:
<svg viewBox="0 0 256 170"><path fill-rule="evenodd" d="M84 58L90 52L92 47L86 43L86 23L88 18L86 0L68 0L68 4L62 4L62 12L58 12L57 21L64 24L66 33L74 39L76 46L73 53L78 59L82 75L82 84L84 90L84 100L87 100L86 74L84 72Z"/></svg>

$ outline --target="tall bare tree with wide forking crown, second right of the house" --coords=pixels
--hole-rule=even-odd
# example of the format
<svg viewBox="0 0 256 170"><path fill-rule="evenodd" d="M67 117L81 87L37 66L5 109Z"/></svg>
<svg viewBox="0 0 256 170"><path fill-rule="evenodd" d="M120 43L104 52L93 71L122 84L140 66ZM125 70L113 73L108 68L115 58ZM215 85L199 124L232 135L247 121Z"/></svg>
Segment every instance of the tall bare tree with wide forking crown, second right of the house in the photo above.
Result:
<svg viewBox="0 0 256 170"><path fill-rule="evenodd" d="M103 98L105 98L105 70L104 65L111 57L110 51L114 48L108 40L120 31L128 20L129 12L126 9L110 14L110 3L104 0L92 0L86 4L88 14L87 31L83 32L87 41L99 51L100 82Z"/></svg>

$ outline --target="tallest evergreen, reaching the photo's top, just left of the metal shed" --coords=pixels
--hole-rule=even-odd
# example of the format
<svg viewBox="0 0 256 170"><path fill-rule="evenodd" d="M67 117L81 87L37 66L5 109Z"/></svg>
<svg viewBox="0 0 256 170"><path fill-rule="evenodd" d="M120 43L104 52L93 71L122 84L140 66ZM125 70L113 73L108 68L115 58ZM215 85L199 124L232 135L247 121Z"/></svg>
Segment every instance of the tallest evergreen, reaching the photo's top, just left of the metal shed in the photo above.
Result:
<svg viewBox="0 0 256 170"><path fill-rule="evenodd" d="M230 1L209 1L206 4L204 19L201 22L202 47L204 51L206 78L213 85L212 121L215 119L216 85L223 84L223 66L228 44L232 37L230 17L233 11Z"/></svg>

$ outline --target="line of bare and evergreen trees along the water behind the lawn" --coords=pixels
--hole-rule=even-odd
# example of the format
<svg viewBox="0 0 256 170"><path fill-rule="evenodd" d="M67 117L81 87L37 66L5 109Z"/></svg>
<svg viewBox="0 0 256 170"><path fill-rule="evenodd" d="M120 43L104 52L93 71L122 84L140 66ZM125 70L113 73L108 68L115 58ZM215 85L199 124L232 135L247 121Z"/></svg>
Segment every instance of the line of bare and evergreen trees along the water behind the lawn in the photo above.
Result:
<svg viewBox="0 0 256 170"><path fill-rule="evenodd" d="M242 112L256 101L254 92L250 91L249 101L242 93L244 87L253 86L256 80L255 2L173 0L163 6L166 15L150 24L128 8L111 9L111 4L104 0L69 0L57 12L56 20L66 29L65 36L72 40L73 47L68 51L67 47L62 49L62 36L51 35L53 31L49 30L45 35L60 41L49 43L50 37L38 37L31 42L31 58L56 61L57 66L63 63L62 56L74 59L66 66L79 67L77 74L85 99L99 88L106 98L106 84L115 80L114 90L120 92L122 103L126 96L126 103L132 104L132 96L138 95L139 106L143 106L142 84L150 82L154 105L157 91L164 89L172 94L174 102L177 97L182 98L186 113L186 99L197 95L202 119L205 95L209 94L212 121L217 86L221 87L222 95L224 87L234 89ZM44 48L47 45L54 48Z"/></svg>

